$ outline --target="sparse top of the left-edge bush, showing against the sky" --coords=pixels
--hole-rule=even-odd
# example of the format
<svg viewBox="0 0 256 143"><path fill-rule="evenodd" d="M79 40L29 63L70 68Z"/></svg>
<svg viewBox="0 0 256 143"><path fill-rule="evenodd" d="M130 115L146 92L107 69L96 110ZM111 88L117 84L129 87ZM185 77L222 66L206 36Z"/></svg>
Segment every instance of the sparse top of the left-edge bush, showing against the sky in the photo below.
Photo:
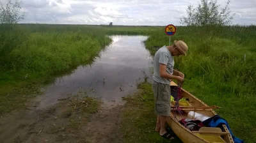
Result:
<svg viewBox="0 0 256 143"><path fill-rule="evenodd" d="M21 1L8 0L6 6L0 2L0 24L17 24L20 20L24 19L25 13L21 12Z"/></svg>

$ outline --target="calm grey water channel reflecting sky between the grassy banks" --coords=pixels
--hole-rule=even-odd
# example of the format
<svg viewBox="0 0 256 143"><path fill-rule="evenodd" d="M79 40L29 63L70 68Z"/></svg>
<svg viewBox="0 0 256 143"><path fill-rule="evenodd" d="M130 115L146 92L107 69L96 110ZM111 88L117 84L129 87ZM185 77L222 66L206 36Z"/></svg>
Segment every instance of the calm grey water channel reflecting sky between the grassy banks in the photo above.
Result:
<svg viewBox="0 0 256 143"><path fill-rule="evenodd" d="M49 107L70 94L102 98L109 105L136 91L145 76L152 77L152 58L141 43L147 36L111 36L113 43L88 66L55 80L38 98L38 108Z"/></svg>

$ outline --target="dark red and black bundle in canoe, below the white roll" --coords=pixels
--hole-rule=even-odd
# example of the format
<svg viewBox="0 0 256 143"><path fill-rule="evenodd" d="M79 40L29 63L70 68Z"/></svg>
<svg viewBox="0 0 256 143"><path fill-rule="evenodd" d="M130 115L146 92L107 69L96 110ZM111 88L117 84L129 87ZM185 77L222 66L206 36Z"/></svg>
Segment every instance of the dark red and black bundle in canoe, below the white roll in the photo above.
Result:
<svg viewBox="0 0 256 143"><path fill-rule="evenodd" d="M198 131L201 127L204 126L204 124L200 120L196 120L196 119L184 118L184 119L181 119L179 123L191 131Z"/></svg>

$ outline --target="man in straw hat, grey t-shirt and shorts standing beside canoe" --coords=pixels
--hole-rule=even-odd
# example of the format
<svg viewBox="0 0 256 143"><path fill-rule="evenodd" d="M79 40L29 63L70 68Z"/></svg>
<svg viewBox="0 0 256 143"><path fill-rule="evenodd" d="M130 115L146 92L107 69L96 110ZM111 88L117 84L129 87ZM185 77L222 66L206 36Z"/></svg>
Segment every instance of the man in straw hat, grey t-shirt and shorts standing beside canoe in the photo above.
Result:
<svg viewBox="0 0 256 143"><path fill-rule="evenodd" d="M173 139L170 133L166 132L166 117L171 114L170 107L170 82L177 80L183 82L184 74L173 70L173 56L186 56L188 46L184 41L174 41L173 45L163 46L157 50L154 56L153 91L155 99L155 112L157 114L156 132L166 139Z"/></svg>

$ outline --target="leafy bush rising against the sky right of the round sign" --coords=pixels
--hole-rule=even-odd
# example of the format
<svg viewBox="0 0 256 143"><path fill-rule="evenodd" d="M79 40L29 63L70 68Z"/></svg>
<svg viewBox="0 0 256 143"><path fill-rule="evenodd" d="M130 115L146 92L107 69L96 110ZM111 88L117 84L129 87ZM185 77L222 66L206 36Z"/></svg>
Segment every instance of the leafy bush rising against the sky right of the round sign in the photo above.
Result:
<svg viewBox="0 0 256 143"><path fill-rule="evenodd" d="M224 26L230 24L234 14L230 16L229 3L230 0L227 1L225 8L220 8L217 0L201 0L196 8L190 4L186 10L188 17L181 17L180 24L187 26Z"/></svg>

